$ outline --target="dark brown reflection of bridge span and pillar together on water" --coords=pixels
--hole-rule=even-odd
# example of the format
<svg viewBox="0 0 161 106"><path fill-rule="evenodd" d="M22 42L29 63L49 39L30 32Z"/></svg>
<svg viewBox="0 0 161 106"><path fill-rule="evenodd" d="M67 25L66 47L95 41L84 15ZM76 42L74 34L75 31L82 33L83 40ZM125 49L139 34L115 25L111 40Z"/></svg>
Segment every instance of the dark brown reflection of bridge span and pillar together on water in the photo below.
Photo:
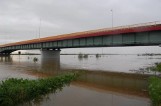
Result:
<svg viewBox="0 0 161 106"><path fill-rule="evenodd" d="M53 76L68 71L81 71L83 74L73 83L85 88L115 91L126 94L147 97L148 75L128 74L108 71L89 71L80 69L61 68L59 58L42 58L39 71L47 76ZM41 75L41 74L40 74Z"/></svg>

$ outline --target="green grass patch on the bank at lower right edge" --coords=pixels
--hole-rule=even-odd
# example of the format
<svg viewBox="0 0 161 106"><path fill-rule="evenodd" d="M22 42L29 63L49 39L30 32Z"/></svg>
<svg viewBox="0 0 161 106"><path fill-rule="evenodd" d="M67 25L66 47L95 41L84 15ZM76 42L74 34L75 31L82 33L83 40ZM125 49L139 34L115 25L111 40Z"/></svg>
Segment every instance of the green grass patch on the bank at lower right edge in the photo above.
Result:
<svg viewBox="0 0 161 106"><path fill-rule="evenodd" d="M161 78L149 78L149 95L153 106L161 106Z"/></svg>

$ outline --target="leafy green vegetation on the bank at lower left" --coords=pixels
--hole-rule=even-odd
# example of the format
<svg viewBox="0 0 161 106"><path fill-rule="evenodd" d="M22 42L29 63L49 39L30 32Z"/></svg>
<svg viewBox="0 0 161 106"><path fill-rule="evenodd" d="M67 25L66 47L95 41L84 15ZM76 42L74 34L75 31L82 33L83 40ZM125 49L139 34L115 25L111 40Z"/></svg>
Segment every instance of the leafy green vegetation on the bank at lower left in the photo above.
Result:
<svg viewBox="0 0 161 106"><path fill-rule="evenodd" d="M62 90L78 77L78 73L67 73L37 80L9 78L0 83L0 106L15 106L34 101L48 93Z"/></svg>

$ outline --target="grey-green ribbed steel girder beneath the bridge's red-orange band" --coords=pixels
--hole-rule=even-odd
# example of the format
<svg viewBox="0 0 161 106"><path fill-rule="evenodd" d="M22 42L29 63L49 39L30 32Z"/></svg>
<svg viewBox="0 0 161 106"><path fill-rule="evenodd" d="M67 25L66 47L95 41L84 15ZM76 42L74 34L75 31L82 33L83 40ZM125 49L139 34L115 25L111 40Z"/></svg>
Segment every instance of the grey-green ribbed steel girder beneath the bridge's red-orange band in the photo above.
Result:
<svg viewBox="0 0 161 106"><path fill-rule="evenodd" d="M89 47L153 46L161 44L161 30L122 33L0 47L1 54L16 50L65 49Z"/></svg>

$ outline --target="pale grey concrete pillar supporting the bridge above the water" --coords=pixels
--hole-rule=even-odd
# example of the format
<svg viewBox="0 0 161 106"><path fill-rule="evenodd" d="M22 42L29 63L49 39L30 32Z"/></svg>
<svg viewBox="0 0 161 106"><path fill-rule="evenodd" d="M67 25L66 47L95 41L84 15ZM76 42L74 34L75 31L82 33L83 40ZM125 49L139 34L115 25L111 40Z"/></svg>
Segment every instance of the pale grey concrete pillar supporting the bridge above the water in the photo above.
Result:
<svg viewBox="0 0 161 106"><path fill-rule="evenodd" d="M42 58L60 58L60 51L61 50L41 50L41 56Z"/></svg>

